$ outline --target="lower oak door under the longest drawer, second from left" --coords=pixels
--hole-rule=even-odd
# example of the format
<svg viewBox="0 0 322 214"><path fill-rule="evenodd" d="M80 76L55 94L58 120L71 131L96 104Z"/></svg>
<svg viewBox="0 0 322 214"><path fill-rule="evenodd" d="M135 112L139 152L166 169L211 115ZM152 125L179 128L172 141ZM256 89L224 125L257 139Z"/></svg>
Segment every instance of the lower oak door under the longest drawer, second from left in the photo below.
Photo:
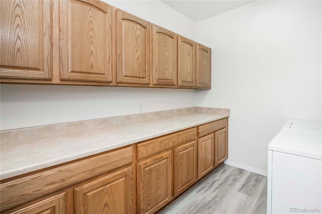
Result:
<svg viewBox="0 0 322 214"><path fill-rule="evenodd" d="M74 204L75 213L134 213L132 167L75 188Z"/></svg>

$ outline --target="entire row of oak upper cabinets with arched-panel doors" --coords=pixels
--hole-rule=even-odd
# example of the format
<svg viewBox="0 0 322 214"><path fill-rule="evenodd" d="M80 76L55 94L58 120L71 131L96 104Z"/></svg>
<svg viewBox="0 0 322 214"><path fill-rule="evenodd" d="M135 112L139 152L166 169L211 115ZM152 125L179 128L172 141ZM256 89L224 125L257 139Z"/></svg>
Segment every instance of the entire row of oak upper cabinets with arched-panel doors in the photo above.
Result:
<svg viewBox="0 0 322 214"><path fill-rule="evenodd" d="M0 0L1 83L211 87L211 49L94 0Z"/></svg>

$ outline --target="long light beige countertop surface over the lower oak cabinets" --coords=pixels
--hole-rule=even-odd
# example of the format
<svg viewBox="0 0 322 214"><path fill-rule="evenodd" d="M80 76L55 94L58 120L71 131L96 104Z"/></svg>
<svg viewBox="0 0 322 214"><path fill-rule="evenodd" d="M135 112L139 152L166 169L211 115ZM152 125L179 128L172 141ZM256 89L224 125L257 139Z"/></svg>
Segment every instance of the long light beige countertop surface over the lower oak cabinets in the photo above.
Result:
<svg viewBox="0 0 322 214"><path fill-rule="evenodd" d="M229 116L192 112L1 143L0 179L98 154Z"/></svg>

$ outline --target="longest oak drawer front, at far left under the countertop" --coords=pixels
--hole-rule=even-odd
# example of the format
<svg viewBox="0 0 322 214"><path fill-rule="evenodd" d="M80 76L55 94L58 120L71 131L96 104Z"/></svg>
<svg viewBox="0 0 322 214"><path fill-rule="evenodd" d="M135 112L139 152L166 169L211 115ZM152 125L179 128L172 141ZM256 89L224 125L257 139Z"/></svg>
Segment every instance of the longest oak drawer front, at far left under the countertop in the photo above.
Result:
<svg viewBox="0 0 322 214"><path fill-rule="evenodd" d="M132 146L75 161L0 185L2 210L133 162Z"/></svg>

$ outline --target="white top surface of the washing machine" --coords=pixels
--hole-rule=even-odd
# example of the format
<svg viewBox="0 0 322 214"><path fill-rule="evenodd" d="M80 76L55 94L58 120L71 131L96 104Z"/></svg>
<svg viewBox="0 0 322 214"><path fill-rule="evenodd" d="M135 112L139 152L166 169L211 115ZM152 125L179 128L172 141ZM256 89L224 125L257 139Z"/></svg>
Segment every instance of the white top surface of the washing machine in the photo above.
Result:
<svg viewBox="0 0 322 214"><path fill-rule="evenodd" d="M287 121L268 149L322 160L321 122Z"/></svg>

